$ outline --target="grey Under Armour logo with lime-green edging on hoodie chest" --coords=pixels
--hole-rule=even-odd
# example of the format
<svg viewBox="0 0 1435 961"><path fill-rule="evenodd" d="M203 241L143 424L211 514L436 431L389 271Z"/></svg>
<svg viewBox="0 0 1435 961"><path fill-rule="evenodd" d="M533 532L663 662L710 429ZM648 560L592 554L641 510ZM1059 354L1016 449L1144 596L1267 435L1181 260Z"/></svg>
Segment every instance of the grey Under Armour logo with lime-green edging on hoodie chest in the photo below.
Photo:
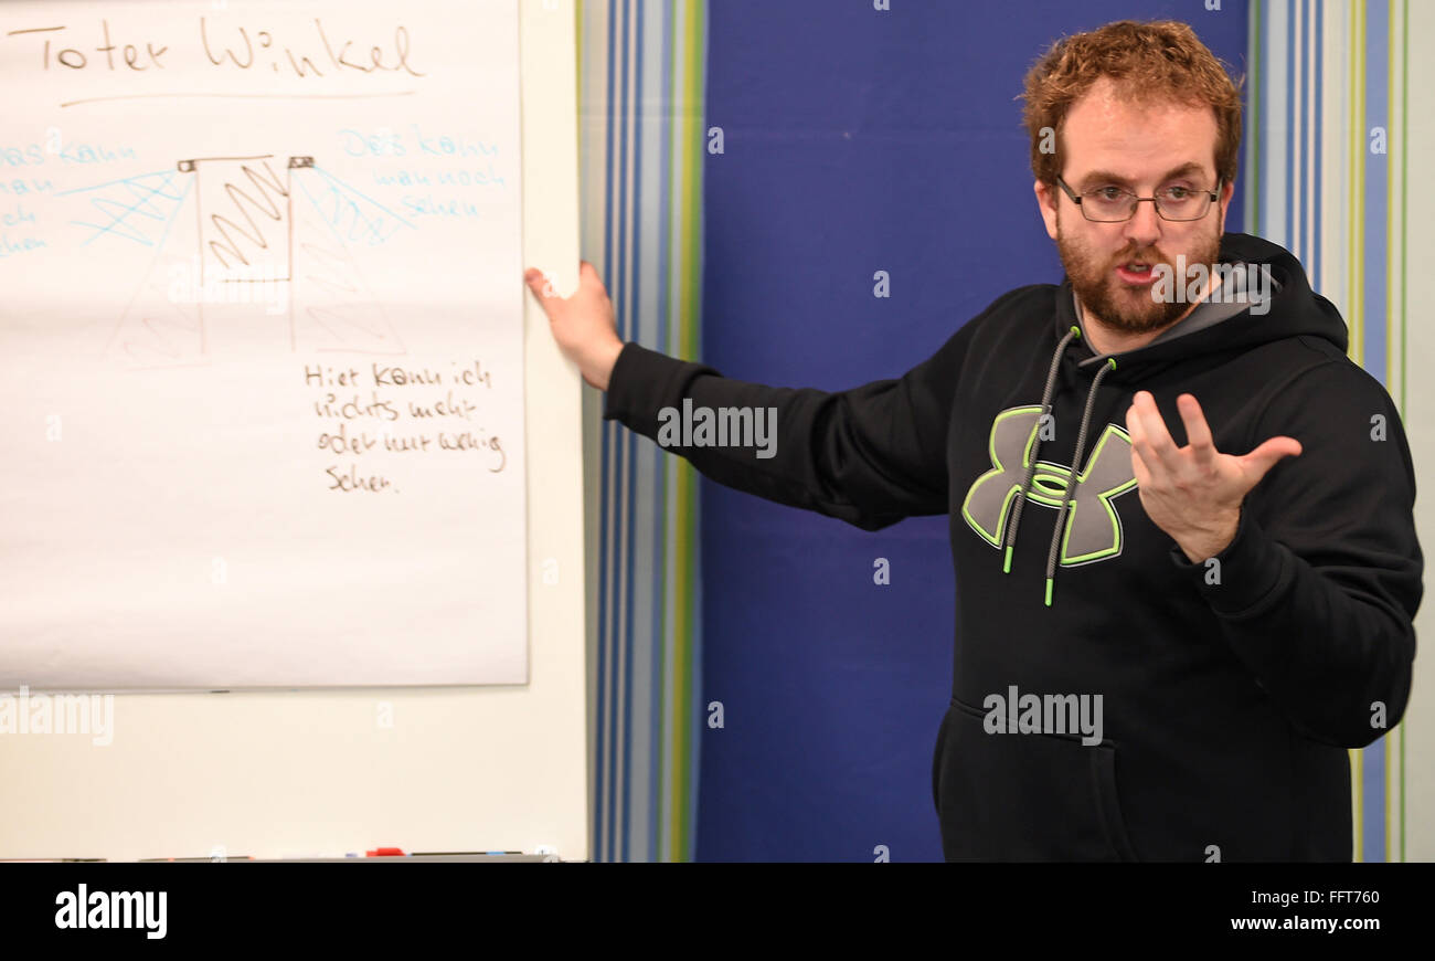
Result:
<svg viewBox="0 0 1435 961"><path fill-rule="evenodd" d="M1040 414L1040 407L1015 407L996 415L990 438L992 470L973 481L961 503L961 516L971 530L999 550L1012 507L1022 493L1026 468L1032 464ZM1072 468L1036 461L1032 488L1027 491L1027 501L1032 504L1055 510L1062 506L1063 498L1069 503L1060 552L1065 567L1121 553L1121 516L1111 501L1137 486L1131 470L1131 435L1115 424L1108 424L1086 458L1086 470L1076 478L1076 497L1066 498Z"/></svg>

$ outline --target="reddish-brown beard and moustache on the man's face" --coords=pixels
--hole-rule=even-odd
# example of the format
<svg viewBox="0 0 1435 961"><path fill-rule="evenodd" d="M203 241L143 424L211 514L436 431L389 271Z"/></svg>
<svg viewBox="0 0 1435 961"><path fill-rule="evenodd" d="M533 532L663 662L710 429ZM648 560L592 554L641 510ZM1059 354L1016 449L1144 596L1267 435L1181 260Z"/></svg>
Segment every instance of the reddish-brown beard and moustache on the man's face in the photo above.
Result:
<svg viewBox="0 0 1435 961"><path fill-rule="evenodd" d="M1210 269L1220 256L1220 233L1203 233L1192 243L1194 246L1184 251L1187 266L1200 263ZM1063 233L1060 210L1058 208L1056 250L1062 257L1066 276L1072 282L1072 290L1076 292L1082 306L1109 328L1124 333L1152 333L1171 326L1181 315L1192 309L1192 305L1182 299L1172 297L1171 303L1152 299L1151 292L1155 284L1138 287L1122 283L1121 277L1116 276L1116 266L1124 263L1145 263L1152 270L1157 264L1165 264L1174 280L1171 286L1184 290L1187 279L1175 273L1174 260L1167 259L1157 247L1144 250L1126 247L1119 254L1106 257L1092 250L1085 240Z"/></svg>

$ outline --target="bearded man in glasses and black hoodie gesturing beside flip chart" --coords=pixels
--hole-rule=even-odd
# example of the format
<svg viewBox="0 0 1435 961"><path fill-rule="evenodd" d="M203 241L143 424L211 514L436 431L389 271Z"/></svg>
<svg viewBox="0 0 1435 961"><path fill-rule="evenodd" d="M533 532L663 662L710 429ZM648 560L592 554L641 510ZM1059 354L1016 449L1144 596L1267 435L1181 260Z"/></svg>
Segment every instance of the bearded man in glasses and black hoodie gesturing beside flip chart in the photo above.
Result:
<svg viewBox="0 0 1435 961"><path fill-rule="evenodd" d="M1346 748L1405 711L1422 556L1398 412L1300 263L1225 234L1240 99L1185 24L1026 79L1060 286L895 381L769 388L621 343L593 267L542 296L606 418L776 409L703 474L875 530L949 513L957 625L933 799L949 860L1349 860Z"/></svg>

